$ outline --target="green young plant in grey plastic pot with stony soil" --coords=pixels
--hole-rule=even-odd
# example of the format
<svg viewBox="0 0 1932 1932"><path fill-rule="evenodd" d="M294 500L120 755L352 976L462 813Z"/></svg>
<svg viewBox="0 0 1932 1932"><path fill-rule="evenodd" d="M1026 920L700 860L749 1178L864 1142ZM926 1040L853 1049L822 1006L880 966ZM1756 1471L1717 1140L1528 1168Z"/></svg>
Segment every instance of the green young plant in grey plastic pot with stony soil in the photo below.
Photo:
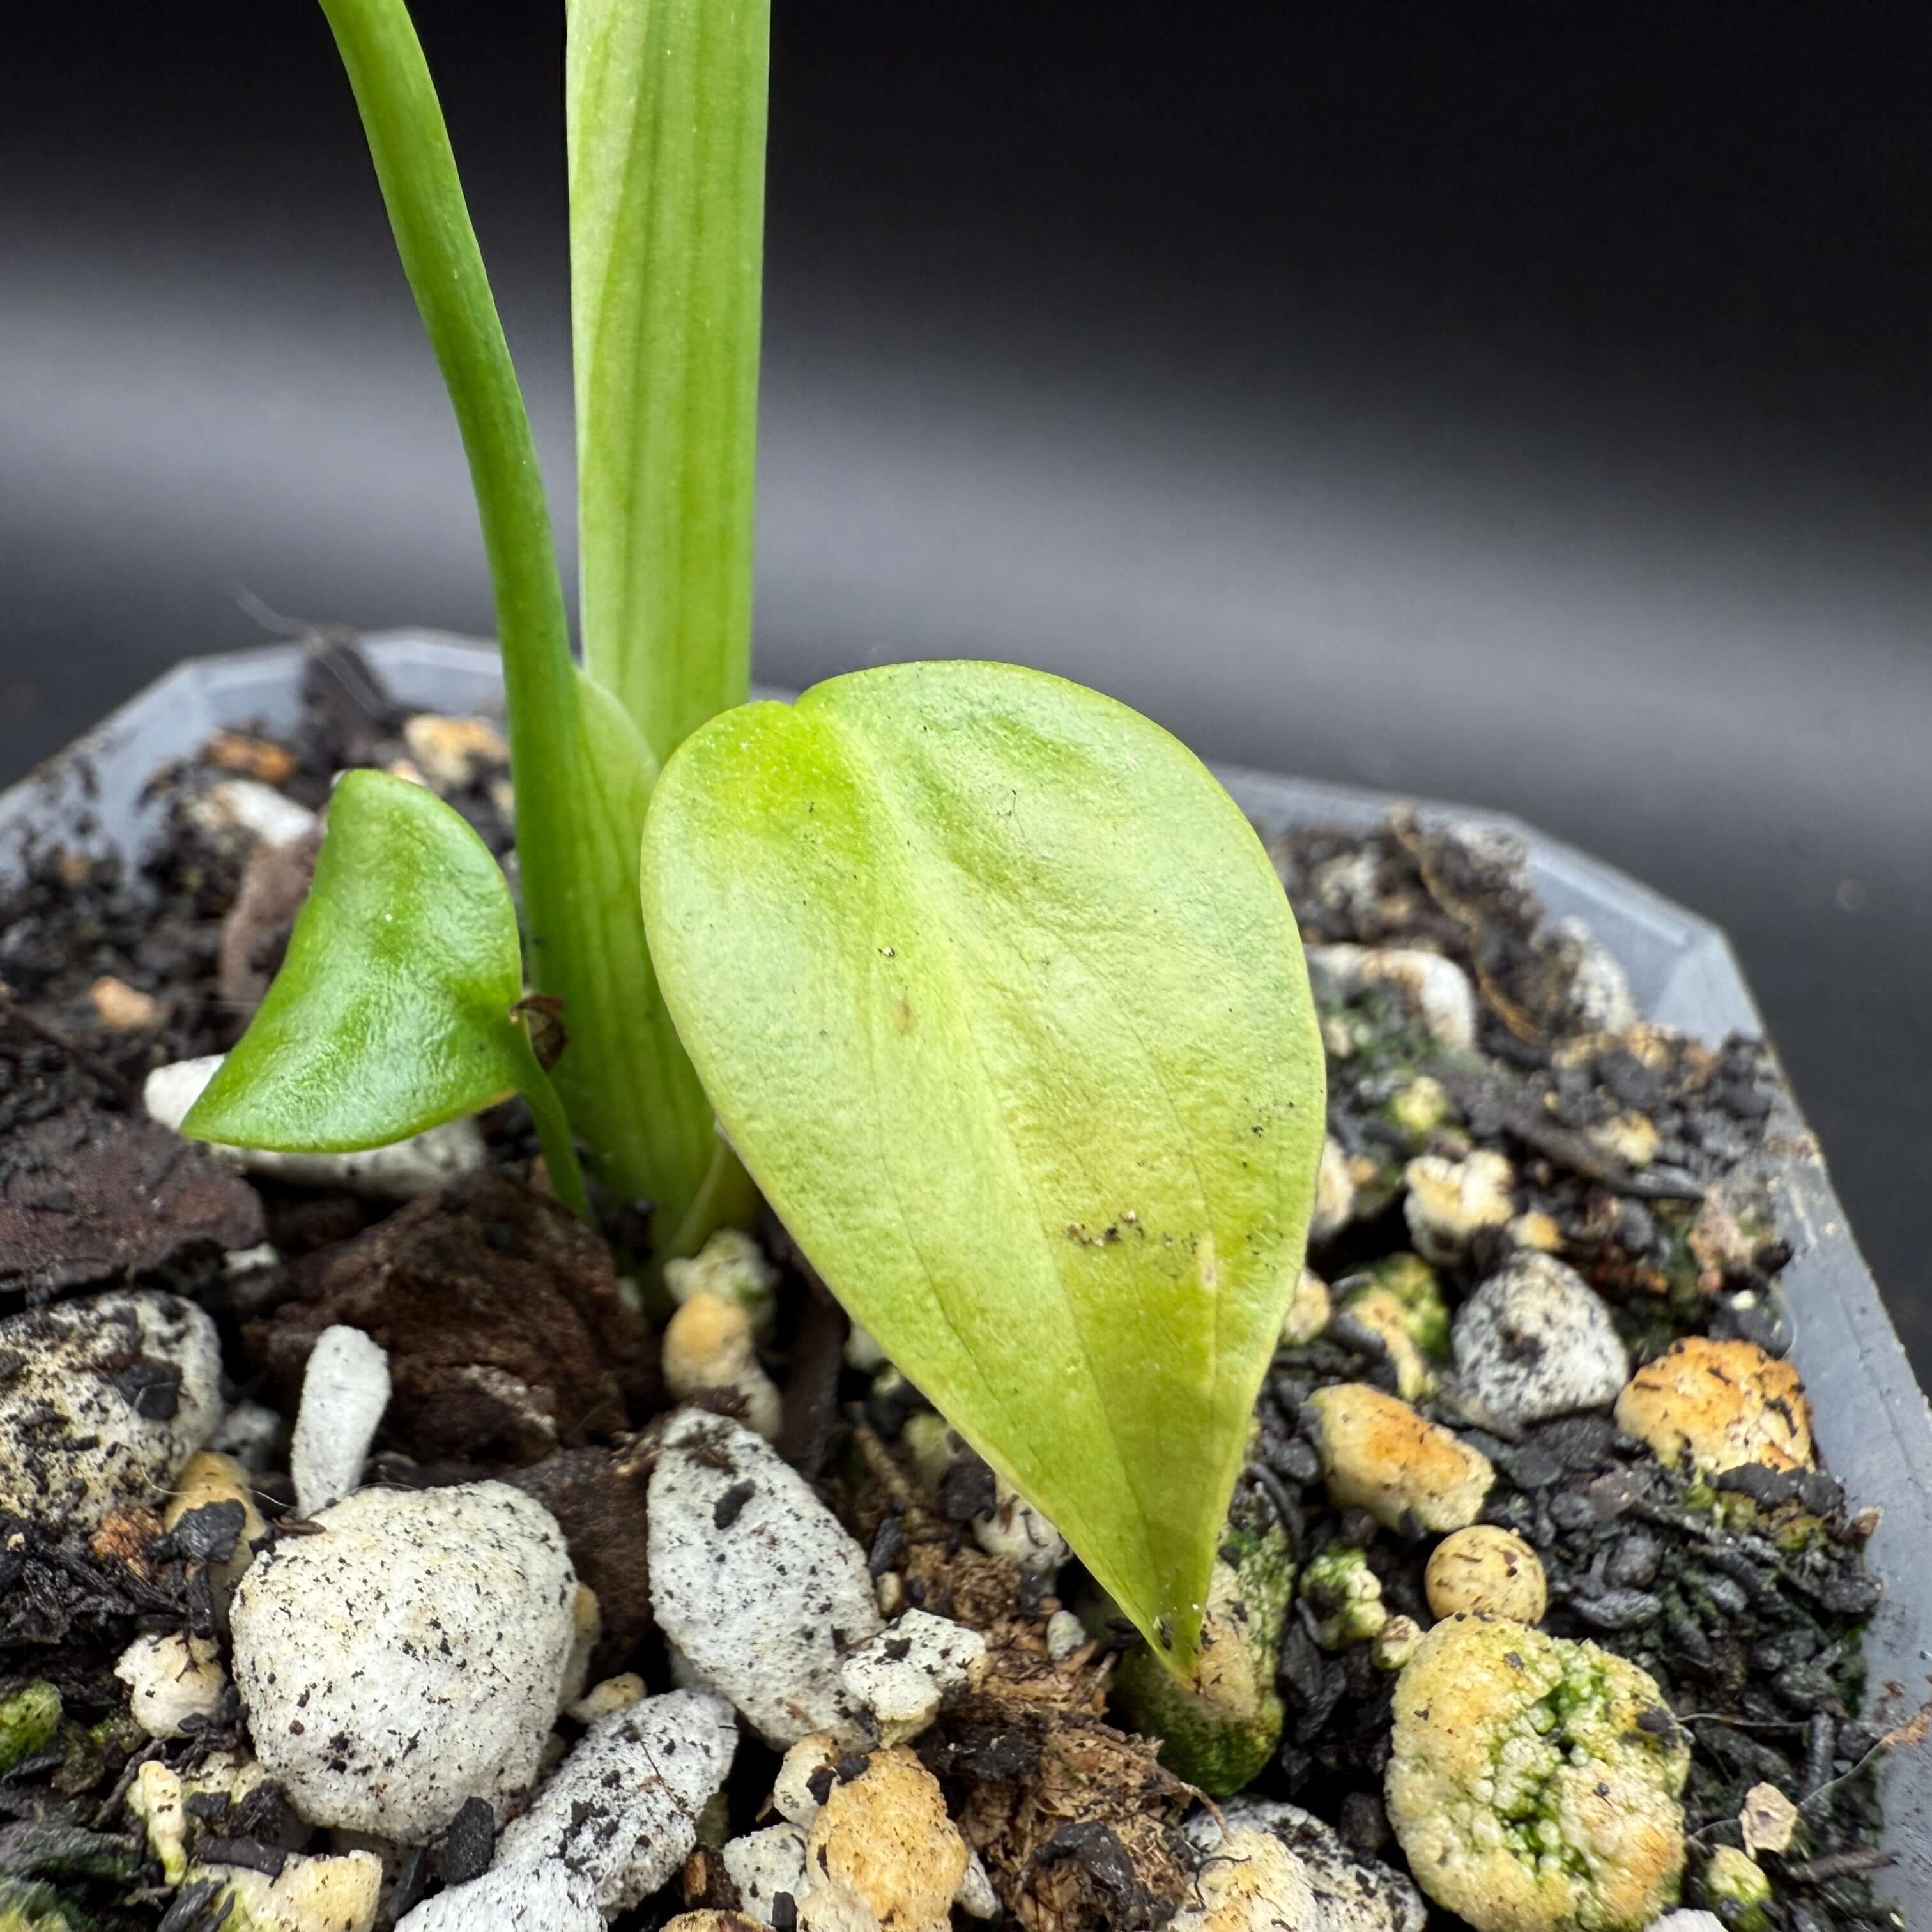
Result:
<svg viewBox="0 0 1932 1932"><path fill-rule="evenodd" d="M1928 1424L1776 1066L1654 1024L1750 1028L1721 941L1540 846L1638 1020L1493 829L1012 667L746 705L755 4L570 10L580 668L421 50L325 8L508 746L270 668L172 960L14 808L12 1279L91 1293L0 1331L0 1911L1876 1922Z"/></svg>

